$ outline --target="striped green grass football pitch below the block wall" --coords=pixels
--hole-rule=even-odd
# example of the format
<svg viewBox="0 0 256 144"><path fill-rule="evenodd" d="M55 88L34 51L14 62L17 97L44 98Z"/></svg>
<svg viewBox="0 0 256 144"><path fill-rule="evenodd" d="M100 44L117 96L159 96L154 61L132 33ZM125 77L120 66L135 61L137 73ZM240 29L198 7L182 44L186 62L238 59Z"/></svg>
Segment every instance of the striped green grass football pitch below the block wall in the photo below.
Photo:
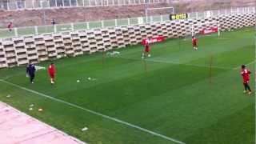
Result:
<svg viewBox="0 0 256 144"><path fill-rule="evenodd" d="M200 36L197 51L190 38L168 39L145 60L143 46L62 58L54 86L46 70L30 84L24 66L2 69L0 101L93 144L254 143L255 98L240 75L247 64L254 90L254 48L250 27Z"/></svg>

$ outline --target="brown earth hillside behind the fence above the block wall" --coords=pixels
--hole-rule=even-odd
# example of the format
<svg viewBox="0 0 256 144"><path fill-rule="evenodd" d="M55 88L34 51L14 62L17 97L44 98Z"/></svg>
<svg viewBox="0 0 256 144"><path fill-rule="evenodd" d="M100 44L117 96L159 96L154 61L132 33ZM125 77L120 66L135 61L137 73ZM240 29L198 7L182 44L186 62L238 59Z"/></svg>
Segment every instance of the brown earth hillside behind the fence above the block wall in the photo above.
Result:
<svg viewBox="0 0 256 144"><path fill-rule="evenodd" d="M136 6L73 7L45 10L0 10L0 28L6 28L9 22L14 26L50 25L54 18L58 24L68 22L98 21L116 18L134 18L145 16L146 7L174 6L175 12L218 10L230 7L255 6L254 0L170 0L161 4ZM168 10L150 12L149 15L169 14Z"/></svg>

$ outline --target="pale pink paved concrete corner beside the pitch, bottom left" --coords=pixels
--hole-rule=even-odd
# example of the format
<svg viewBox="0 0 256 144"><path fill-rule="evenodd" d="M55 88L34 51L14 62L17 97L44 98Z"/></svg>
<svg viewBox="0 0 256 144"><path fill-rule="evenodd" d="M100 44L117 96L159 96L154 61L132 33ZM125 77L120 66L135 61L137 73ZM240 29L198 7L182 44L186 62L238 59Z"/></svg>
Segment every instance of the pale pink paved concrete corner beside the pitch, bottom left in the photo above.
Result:
<svg viewBox="0 0 256 144"><path fill-rule="evenodd" d="M0 102L1 144L85 144L46 123Z"/></svg>

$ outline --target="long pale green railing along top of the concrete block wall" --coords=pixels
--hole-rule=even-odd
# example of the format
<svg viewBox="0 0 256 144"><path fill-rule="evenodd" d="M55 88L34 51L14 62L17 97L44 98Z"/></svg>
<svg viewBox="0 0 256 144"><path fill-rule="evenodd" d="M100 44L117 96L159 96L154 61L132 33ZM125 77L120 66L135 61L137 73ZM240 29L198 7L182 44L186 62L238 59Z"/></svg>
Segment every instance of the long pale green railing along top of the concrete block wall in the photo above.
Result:
<svg viewBox="0 0 256 144"><path fill-rule="evenodd" d="M244 14L244 13L255 13L255 7L239 7L225 10L210 10L203 12L194 12L189 13L188 16L190 19L193 18L209 18L209 17L218 17L228 14ZM112 19L112 20L102 20L94 22L76 22L76 23L66 23L58 25L46 25L46 26L26 26L26 27L16 27L12 31L8 29L0 29L0 38L8 38L15 36L25 36L25 35L38 35L38 34L53 34L61 33L66 31L74 30L90 30L98 28L107 28L114 26L129 26L129 25L138 25L150 22L166 22L170 21L169 14L166 15L157 15L138 18L122 18L122 19Z"/></svg>

